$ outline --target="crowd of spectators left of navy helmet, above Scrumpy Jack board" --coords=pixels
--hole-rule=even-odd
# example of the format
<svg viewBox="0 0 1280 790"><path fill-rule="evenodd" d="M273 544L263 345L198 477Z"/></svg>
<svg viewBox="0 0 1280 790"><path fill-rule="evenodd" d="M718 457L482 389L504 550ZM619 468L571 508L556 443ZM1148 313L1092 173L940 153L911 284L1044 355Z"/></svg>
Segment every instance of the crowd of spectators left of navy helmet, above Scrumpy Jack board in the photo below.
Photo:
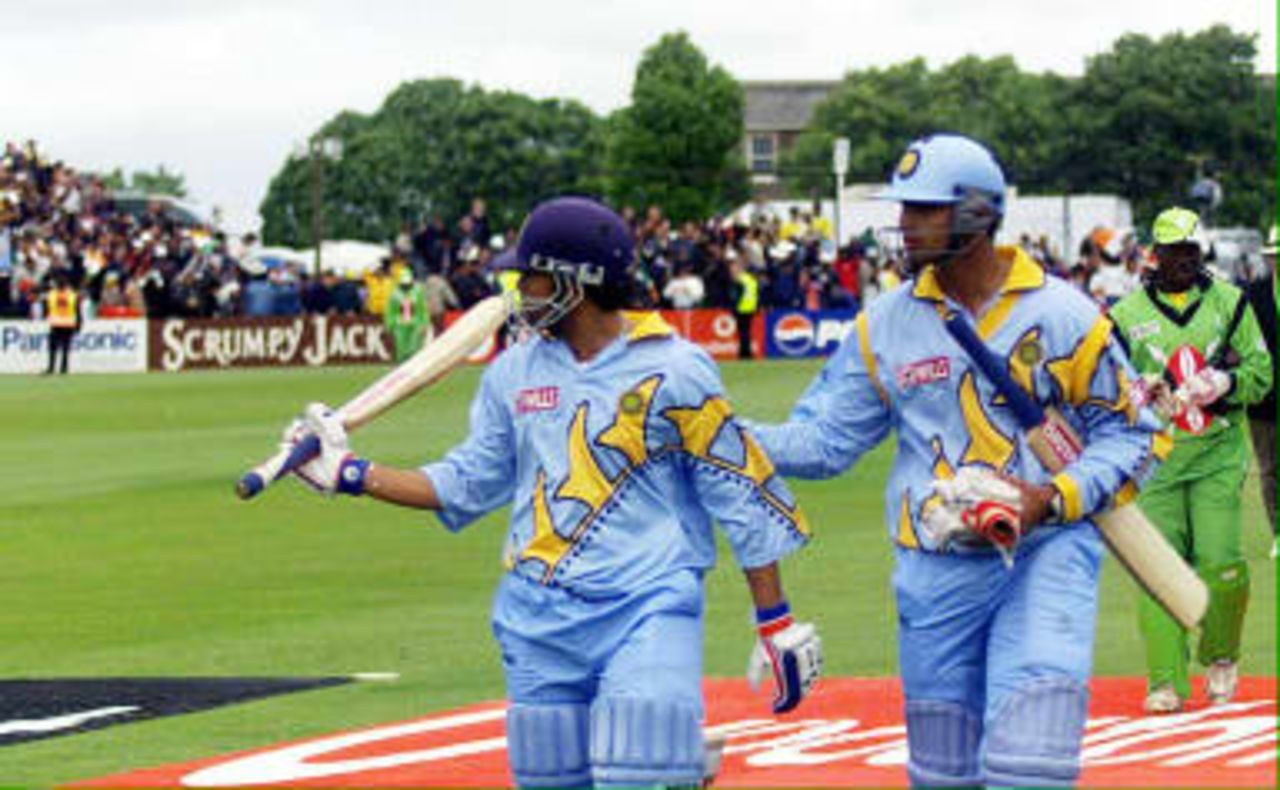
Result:
<svg viewBox="0 0 1280 790"><path fill-rule="evenodd" d="M229 239L180 218L163 198L125 207L100 177L33 141L10 142L0 157L0 318L38 318L58 282L99 318L380 314L403 268L429 280L442 311L490 293L484 271L503 237L490 237L484 201L452 230L422 230L388 245L369 271L314 273L262 255L253 234Z"/></svg>

